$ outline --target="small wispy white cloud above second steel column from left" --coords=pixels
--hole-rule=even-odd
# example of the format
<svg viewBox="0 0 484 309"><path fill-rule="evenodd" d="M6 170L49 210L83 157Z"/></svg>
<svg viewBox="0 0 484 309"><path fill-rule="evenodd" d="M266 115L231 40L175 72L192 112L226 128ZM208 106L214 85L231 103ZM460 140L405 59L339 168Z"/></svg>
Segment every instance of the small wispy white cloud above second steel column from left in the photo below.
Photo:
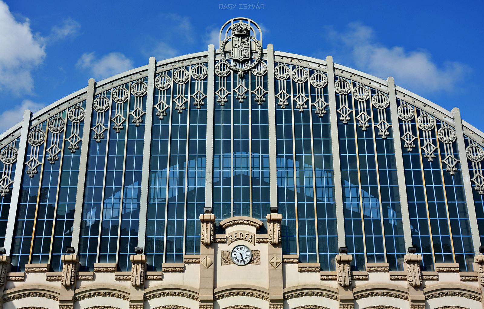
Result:
<svg viewBox="0 0 484 309"><path fill-rule="evenodd" d="M76 64L77 68L88 69L96 79L103 79L112 75L133 69L133 61L121 53L109 53L97 59L94 52L84 53Z"/></svg>

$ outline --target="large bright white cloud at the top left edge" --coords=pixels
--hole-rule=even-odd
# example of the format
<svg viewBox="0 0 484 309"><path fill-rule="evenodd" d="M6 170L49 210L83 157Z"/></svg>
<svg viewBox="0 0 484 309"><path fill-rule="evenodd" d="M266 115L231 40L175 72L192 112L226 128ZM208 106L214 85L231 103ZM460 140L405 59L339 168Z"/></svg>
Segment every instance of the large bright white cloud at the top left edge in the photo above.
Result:
<svg viewBox="0 0 484 309"><path fill-rule="evenodd" d="M32 93L31 72L44 58L45 44L32 34L29 20L17 22L0 0L0 90L18 96Z"/></svg>

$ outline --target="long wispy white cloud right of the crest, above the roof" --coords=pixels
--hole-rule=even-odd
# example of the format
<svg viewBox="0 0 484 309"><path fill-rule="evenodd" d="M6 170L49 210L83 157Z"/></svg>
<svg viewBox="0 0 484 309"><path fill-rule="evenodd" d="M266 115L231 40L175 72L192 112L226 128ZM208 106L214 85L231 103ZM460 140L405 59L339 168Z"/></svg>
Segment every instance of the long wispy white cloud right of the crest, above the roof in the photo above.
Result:
<svg viewBox="0 0 484 309"><path fill-rule="evenodd" d="M348 28L343 33L329 28L328 34L333 43L342 44L339 48L351 50L349 58L356 68L383 79L393 76L397 85L413 91L452 91L470 70L459 62L439 66L425 50L406 51L402 46L388 48L374 43L373 29L361 23L350 23Z"/></svg>

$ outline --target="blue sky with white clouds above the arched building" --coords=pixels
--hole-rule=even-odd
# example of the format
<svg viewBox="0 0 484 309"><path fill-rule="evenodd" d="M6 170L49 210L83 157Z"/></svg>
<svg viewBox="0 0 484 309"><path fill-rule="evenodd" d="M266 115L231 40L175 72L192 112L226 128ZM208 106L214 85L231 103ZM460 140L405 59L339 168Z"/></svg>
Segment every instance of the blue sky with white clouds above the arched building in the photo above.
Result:
<svg viewBox="0 0 484 309"><path fill-rule="evenodd" d="M0 133L32 111L148 63L206 50L233 17L263 45L386 79L484 131L483 1L0 0Z"/></svg>

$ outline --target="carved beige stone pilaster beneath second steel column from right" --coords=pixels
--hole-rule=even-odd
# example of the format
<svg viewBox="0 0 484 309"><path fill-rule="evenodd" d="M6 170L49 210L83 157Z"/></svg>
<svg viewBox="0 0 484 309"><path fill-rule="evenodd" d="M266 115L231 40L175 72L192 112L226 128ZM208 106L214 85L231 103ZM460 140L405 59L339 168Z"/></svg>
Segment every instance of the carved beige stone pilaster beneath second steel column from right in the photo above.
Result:
<svg viewBox="0 0 484 309"><path fill-rule="evenodd" d="M420 262L422 254L405 254L403 257L404 268L407 271L408 301L411 309L425 308L425 296L423 295L422 271Z"/></svg>

